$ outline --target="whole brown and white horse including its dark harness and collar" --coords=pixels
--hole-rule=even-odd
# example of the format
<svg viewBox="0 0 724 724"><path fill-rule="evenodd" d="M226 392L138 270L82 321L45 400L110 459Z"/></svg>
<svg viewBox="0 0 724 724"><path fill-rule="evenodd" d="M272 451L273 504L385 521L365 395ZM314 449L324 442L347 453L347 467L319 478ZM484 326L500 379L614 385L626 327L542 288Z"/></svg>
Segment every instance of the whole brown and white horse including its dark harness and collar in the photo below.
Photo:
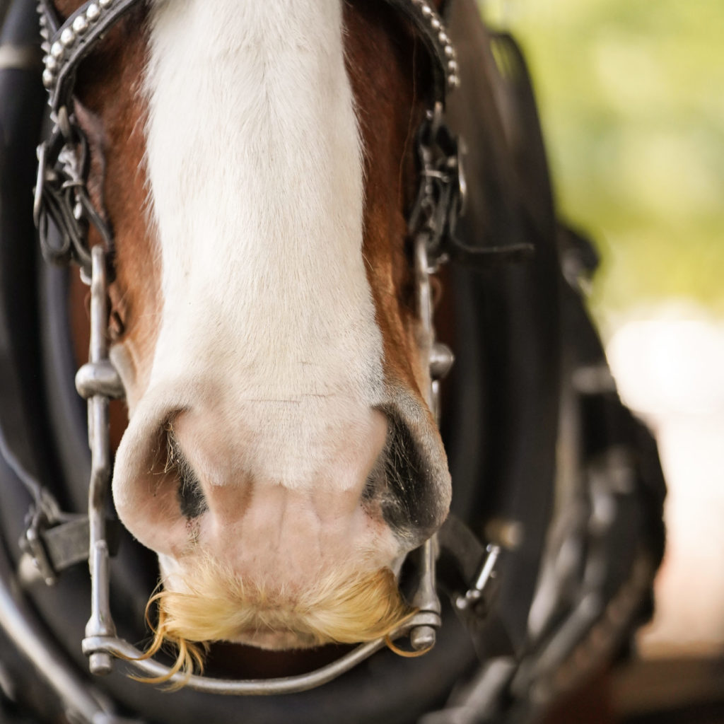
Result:
<svg viewBox="0 0 724 724"><path fill-rule="evenodd" d="M412 721L460 681L456 707L477 720L481 690L489 706L505 691L540 707L596 626L609 654L621 645L660 559L660 470L584 312L592 249L557 224L512 39L463 0L38 11L43 68L16 69L34 83L17 112L39 125L41 76L49 117L30 130L43 138L32 213L20 203L3 240L24 255L18 279L38 274L39 300L20 298L22 328L39 331L8 345L20 399L7 408L19 431L49 424L41 460L34 434L1 425L17 497L4 537L24 541L2 578L54 633L17 595L0 620L46 672L46 706L111 710L59 663L80 653L67 640L89 587L81 656L94 674L125 660L146 683L111 675L104 691L159 721ZM35 11L9 13L20 46ZM475 140L467 155L458 135ZM33 216L44 256L80 276L17 251ZM74 366L90 460L69 423ZM67 487L46 484L54 468ZM598 520L605 505L618 515ZM152 640L137 649L147 602ZM169 665L151 659L165 641ZM149 681L182 689L140 706Z"/></svg>

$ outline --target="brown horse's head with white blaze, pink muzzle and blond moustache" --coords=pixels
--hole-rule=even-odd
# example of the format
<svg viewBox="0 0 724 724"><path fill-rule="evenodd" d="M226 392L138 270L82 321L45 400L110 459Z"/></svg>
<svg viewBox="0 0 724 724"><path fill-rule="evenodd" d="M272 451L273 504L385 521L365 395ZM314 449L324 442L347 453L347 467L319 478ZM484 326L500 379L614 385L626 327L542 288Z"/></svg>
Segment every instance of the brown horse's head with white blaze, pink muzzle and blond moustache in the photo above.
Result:
<svg viewBox="0 0 724 724"><path fill-rule="evenodd" d="M161 636L306 647L410 613L400 565L450 502L405 217L431 76L390 7L322 0L153 0L80 65L113 495Z"/></svg>

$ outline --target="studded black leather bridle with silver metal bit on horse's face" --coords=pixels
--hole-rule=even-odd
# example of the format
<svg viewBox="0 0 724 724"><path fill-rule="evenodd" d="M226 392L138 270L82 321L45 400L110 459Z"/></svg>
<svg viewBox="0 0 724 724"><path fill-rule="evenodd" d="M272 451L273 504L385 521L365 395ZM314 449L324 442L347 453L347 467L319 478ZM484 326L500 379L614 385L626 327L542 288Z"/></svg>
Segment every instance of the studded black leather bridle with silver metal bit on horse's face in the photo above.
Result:
<svg viewBox="0 0 724 724"><path fill-rule="evenodd" d="M455 240L455 222L465 198L465 181L460 167L458 139L445 124L445 98L459 85L455 49L445 25L426 0L387 0L410 22L432 58L432 88L429 109L416 135L416 160L420 182L408 219L413 240L413 267L422 338L421 350L428 359L430 387L426 395L429 407L439 421L439 380L452 366L452 353L434 339L430 275L449 257L484 260L490 250L467 248ZM109 450L109 399L124 395L122 383L108 357L106 343L107 273L106 255L112 253L113 236L103 216L90 201L88 193L88 140L72 112L75 75L80 62L88 56L104 35L138 7L140 0L90 0L62 24L57 20L50 0L40 0L41 35L45 51L43 84L49 91L49 138L38 147L38 179L35 186L33 216L38 227L43 255L49 261L80 266L81 277L90 284L89 361L77 372L76 387L88 400L88 437L91 450L91 474L88 492L89 551L91 574L91 616L85 630L83 652L89 657L91 673L105 674L112 668L113 656L122 657L144 675L168 675L159 662L142 658L142 653L116 636L110 613L109 544L106 533L105 505L111 470ZM56 234L49 233L51 224ZM88 230L93 224L102 244L89 248ZM60 239L54 245L51 238ZM506 254L520 255L528 245L506 248ZM500 253L500 250L492 250ZM28 550L43 576L51 578L53 567L41 544L38 526L30 526L26 536ZM62 541L62 535L56 533ZM48 539L45 539L46 544ZM79 543L80 544L80 543ZM489 550L473 586L462 598L465 607L479 599L492 574L499 549ZM416 590L411 605L416 614L392 633L390 638L409 636L413 651L424 652L434 646L440 626L440 602L435 589L437 539L433 536L416 552ZM75 556L77 559L77 555ZM363 644L336 662L304 675L287 678L225 681L176 674L171 681L184 681L199 691L220 694L285 694L320 686L386 645L376 639Z"/></svg>

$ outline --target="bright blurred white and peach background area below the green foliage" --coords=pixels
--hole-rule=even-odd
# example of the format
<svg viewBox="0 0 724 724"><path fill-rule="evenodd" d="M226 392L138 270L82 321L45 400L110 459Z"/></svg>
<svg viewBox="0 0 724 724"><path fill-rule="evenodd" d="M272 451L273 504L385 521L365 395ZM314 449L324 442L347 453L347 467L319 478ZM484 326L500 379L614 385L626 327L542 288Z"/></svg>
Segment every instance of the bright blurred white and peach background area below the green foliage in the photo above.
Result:
<svg viewBox="0 0 724 724"><path fill-rule="evenodd" d="M618 319L607 355L657 437L668 542L641 654L724 652L724 321L670 301Z"/></svg>

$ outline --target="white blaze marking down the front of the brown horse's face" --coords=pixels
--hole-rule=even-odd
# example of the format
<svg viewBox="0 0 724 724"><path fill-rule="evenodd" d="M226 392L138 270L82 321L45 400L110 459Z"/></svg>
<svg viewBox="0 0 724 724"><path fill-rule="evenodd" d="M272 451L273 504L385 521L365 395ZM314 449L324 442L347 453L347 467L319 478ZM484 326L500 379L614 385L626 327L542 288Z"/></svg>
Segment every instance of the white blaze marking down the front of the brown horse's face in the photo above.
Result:
<svg viewBox="0 0 724 724"><path fill-rule="evenodd" d="M232 454L290 487L357 424L369 433L383 394L341 14L330 0L156 0L151 15L164 313L148 390L180 380L193 405L203 380Z"/></svg>

